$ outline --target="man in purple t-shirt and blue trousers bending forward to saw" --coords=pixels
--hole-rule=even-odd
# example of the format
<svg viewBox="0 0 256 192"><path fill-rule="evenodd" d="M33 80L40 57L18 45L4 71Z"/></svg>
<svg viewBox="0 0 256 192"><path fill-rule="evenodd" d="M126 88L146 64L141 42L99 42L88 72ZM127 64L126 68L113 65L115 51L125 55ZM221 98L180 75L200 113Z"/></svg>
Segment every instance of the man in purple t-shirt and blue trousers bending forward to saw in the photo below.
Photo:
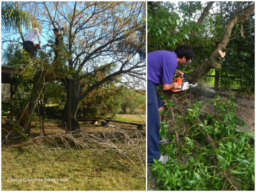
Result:
<svg viewBox="0 0 256 192"><path fill-rule="evenodd" d="M153 158L158 162L165 163L168 156L160 155L159 143L166 143L168 140L160 140L159 112L164 110L164 102L160 100L156 92L156 85L163 85L164 90L178 88L178 83L172 82L174 74L180 77L184 73L177 70L178 65L186 64L194 57L190 46L182 45L174 52L167 50L153 51L148 54L147 60L147 161L153 163Z"/></svg>

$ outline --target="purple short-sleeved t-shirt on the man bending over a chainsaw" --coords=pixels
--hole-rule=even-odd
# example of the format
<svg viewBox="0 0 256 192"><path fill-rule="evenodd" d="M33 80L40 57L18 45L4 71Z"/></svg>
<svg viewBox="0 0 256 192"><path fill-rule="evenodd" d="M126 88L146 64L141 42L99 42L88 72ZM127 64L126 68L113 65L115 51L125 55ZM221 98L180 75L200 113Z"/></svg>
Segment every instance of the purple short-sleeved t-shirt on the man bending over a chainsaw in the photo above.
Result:
<svg viewBox="0 0 256 192"><path fill-rule="evenodd" d="M156 84L171 84L177 67L175 52L166 50L150 52L147 62L147 80Z"/></svg>

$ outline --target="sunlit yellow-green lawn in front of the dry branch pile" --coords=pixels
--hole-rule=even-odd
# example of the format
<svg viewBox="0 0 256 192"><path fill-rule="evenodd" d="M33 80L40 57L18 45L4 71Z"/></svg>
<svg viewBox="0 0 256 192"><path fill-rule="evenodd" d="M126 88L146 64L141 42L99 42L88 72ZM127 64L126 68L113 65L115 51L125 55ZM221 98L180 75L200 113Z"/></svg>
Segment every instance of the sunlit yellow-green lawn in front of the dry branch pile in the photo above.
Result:
<svg viewBox="0 0 256 192"><path fill-rule="evenodd" d="M2 190L146 189L145 178L110 167L109 160L98 158L92 150L82 152L44 151L53 162L42 151L2 148Z"/></svg>

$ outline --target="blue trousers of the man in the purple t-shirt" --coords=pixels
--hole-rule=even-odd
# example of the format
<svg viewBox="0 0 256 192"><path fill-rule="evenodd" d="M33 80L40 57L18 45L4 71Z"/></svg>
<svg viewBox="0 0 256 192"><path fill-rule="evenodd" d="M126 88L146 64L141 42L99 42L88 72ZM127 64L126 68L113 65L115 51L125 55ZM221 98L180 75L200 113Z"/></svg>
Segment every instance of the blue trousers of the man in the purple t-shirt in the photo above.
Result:
<svg viewBox="0 0 256 192"><path fill-rule="evenodd" d="M164 105L156 92L156 84L147 81L147 161L160 159L160 118L158 109Z"/></svg>

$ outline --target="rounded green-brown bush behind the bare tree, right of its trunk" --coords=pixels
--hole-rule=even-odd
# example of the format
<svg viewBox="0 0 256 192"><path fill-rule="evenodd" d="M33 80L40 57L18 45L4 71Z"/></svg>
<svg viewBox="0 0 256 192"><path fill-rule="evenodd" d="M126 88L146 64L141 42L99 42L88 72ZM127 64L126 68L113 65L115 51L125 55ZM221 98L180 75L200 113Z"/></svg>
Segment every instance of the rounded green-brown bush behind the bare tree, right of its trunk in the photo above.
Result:
<svg viewBox="0 0 256 192"><path fill-rule="evenodd" d="M114 116L120 109L123 114L127 114L128 111L132 114L142 112L146 110L145 100L145 95L125 87L120 90L101 88L89 94L88 98L81 102L83 108L81 115Z"/></svg>

